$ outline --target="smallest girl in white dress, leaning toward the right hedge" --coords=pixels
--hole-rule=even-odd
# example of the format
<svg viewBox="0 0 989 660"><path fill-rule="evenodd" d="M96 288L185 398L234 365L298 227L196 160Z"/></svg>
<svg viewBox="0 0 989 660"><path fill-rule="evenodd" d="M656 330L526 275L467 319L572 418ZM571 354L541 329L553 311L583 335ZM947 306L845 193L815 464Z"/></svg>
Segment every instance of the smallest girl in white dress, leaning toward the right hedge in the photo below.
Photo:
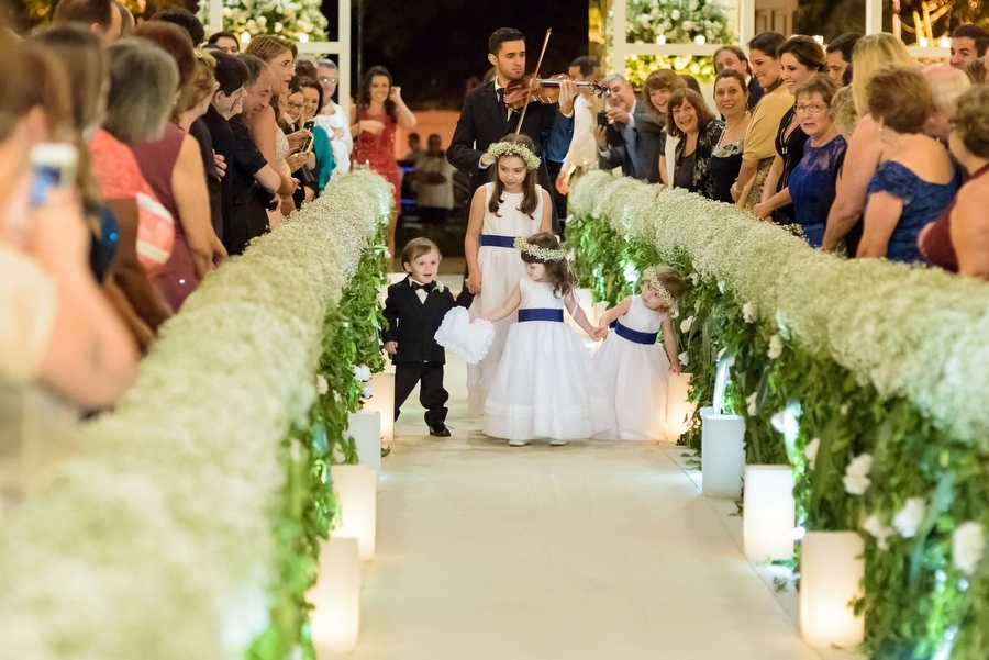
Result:
<svg viewBox="0 0 989 660"><path fill-rule="evenodd" d="M594 338L607 335L607 339L594 354L594 365L612 396L616 422L600 437L666 439L669 372L680 372L670 313L682 292L684 280L676 270L647 268L641 294L630 295L598 321ZM656 343L660 328L663 345Z"/></svg>

